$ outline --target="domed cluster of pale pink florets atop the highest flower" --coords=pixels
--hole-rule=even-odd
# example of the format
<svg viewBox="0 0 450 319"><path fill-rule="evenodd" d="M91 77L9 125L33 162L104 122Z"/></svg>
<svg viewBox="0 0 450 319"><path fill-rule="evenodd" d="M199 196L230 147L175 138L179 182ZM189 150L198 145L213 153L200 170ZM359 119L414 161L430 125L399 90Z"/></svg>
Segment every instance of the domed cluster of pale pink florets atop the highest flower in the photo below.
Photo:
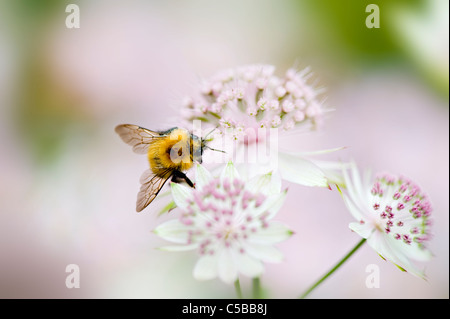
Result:
<svg viewBox="0 0 450 319"><path fill-rule="evenodd" d="M188 120L232 128L236 138L249 127L315 126L323 107L319 92L306 83L308 70L289 69L284 77L274 71L272 65L257 64L217 73L204 81L198 96L186 99Z"/></svg>

